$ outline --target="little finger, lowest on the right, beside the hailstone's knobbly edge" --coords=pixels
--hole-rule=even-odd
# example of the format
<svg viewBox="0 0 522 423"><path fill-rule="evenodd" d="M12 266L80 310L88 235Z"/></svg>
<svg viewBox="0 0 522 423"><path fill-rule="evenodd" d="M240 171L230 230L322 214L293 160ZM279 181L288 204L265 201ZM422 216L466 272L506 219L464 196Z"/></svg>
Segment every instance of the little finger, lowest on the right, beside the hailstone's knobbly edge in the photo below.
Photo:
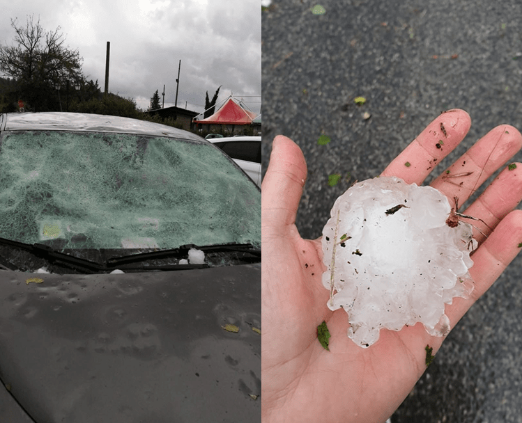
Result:
<svg viewBox="0 0 522 423"><path fill-rule="evenodd" d="M474 264L470 274L475 282L475 289L470 298L454 298L453 304L447 306L446 314L450 318L452 328L473 303L493 285L521 248L522 211L514 210L500 221L497 228L473 255Z"/></svg>

